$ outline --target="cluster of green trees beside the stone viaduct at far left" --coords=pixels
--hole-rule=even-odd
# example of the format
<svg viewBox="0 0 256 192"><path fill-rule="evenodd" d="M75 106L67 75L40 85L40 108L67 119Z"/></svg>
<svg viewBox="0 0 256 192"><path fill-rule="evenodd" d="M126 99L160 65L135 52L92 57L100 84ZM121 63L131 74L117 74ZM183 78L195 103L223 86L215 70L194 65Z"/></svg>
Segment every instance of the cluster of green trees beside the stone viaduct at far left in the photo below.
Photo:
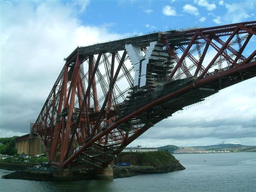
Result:
<svg viewBox="0 0 256 192"><path fill-rule="evenodd" d="M17 149L15 148L15 138L17 137L18 136L0 138L0 154L17 154Z"/></svg>

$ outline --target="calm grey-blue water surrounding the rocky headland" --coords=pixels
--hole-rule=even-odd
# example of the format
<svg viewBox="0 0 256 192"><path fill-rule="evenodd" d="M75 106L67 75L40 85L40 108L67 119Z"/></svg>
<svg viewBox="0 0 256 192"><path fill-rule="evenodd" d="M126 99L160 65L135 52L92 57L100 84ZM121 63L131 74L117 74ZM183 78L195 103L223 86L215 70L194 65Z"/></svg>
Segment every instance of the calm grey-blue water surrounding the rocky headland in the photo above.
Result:
<svg viewBox="0 0 256 192"><path fill-rule="evenodd" d="M176 154L186 170L112 181L0 179L0 192L256 192L256 153ZM204 162L206 160L206 162ZM0 175L11 172L0 170Z"/></svg>

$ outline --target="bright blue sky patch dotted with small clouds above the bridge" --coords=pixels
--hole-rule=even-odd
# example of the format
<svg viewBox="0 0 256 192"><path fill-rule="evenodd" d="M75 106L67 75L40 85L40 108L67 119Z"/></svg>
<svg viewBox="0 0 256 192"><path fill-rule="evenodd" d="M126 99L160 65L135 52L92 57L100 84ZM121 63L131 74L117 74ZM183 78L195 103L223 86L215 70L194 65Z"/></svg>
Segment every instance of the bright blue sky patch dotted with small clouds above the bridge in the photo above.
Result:
<svg viewBox="0 0 256 192"><path fill-rule="evenodd" d="M120 34L208 27L254 20L255 1L91 1L79 18Z"/></svg>

